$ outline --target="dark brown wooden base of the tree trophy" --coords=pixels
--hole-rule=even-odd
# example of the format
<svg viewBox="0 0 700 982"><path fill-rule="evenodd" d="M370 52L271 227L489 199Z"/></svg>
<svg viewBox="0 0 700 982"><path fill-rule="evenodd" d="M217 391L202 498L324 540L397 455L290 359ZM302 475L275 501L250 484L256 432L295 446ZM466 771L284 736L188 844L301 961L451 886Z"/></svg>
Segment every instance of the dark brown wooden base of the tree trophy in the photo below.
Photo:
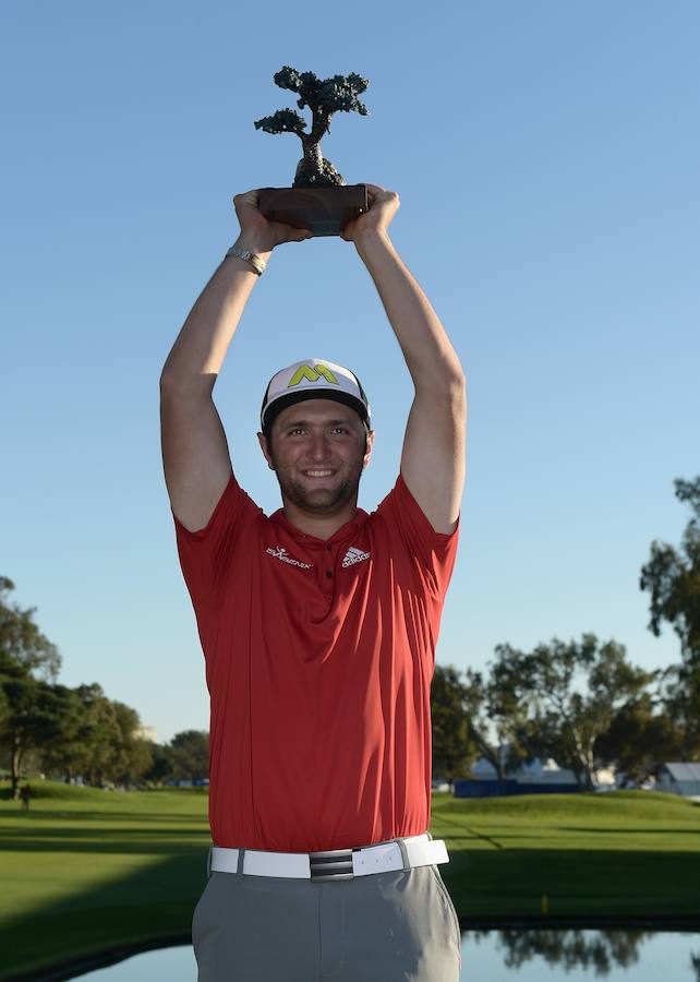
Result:
<svg viewBox="0 0 700 982"><path fill-rule="evenodd" d="M307 228L314 236L339 236L348 221L367 211L367 188L262 188L257 206L268 221Z"/></svg>

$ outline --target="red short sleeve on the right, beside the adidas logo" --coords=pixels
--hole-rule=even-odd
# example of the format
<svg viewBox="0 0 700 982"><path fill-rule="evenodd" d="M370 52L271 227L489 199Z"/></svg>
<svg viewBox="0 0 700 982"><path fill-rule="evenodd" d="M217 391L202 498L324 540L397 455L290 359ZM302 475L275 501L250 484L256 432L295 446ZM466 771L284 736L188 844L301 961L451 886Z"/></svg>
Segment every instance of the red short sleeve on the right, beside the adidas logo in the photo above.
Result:
<svg viewBox="0 0 700 982"><path fill-rule="evenodd" d="M377 515L384 519L389 534L413 558L418 573L431 594L443 600L457 558L460 515L454 531L435 531L400 472L396 484L379 504Z"/></svg>

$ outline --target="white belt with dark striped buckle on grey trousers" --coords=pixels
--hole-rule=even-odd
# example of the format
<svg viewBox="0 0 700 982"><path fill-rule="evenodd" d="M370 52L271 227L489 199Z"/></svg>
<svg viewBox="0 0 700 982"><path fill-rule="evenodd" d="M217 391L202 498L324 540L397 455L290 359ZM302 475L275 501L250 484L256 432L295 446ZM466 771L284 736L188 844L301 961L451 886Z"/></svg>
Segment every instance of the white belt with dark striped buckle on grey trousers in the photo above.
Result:
<svg viewBox="0 0 700 982"><path fill-rule="evenodd" d="M401 843L401 845L399 845ZM403 862L403 851L406 860ZM208 871L237 873L239 849L212 846ZM331 849L326 852L262 852L245 849L242 873L246 876L291 876L300 879L352 879L371 873L388 873L411 866L448 863L444 839L431 839L427 833L407 836L378 846Z"/></svg>

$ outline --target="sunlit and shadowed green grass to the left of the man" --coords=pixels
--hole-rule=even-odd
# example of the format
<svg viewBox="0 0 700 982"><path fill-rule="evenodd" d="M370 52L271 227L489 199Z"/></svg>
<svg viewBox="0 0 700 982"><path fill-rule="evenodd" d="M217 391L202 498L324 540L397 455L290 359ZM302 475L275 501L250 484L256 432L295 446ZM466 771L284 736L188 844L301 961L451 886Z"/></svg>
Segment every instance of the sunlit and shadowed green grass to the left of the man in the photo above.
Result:
<svg viewBox="0 0 700 982"><path fill-rule="evenodd" d="M0 801L0 978L188 935L206 881L205 791L32 788L28 813Z"/></svg>

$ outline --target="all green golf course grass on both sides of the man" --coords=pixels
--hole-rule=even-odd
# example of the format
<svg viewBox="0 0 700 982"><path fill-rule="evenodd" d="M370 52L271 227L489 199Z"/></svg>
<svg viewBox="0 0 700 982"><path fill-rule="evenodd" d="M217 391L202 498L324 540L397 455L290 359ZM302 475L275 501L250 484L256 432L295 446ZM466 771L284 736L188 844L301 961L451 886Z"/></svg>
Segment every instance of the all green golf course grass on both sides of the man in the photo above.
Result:
<svg viewBox="0 0 700 982"><path fill-rule="evenodd" d="M204 888L206 791L0 792L3 973L119 944L186 937ZM433 795L440 873L480 918L700 917L700 806L647 792L482 801ZM4 975L7 978L7 975Z"/></svg>

